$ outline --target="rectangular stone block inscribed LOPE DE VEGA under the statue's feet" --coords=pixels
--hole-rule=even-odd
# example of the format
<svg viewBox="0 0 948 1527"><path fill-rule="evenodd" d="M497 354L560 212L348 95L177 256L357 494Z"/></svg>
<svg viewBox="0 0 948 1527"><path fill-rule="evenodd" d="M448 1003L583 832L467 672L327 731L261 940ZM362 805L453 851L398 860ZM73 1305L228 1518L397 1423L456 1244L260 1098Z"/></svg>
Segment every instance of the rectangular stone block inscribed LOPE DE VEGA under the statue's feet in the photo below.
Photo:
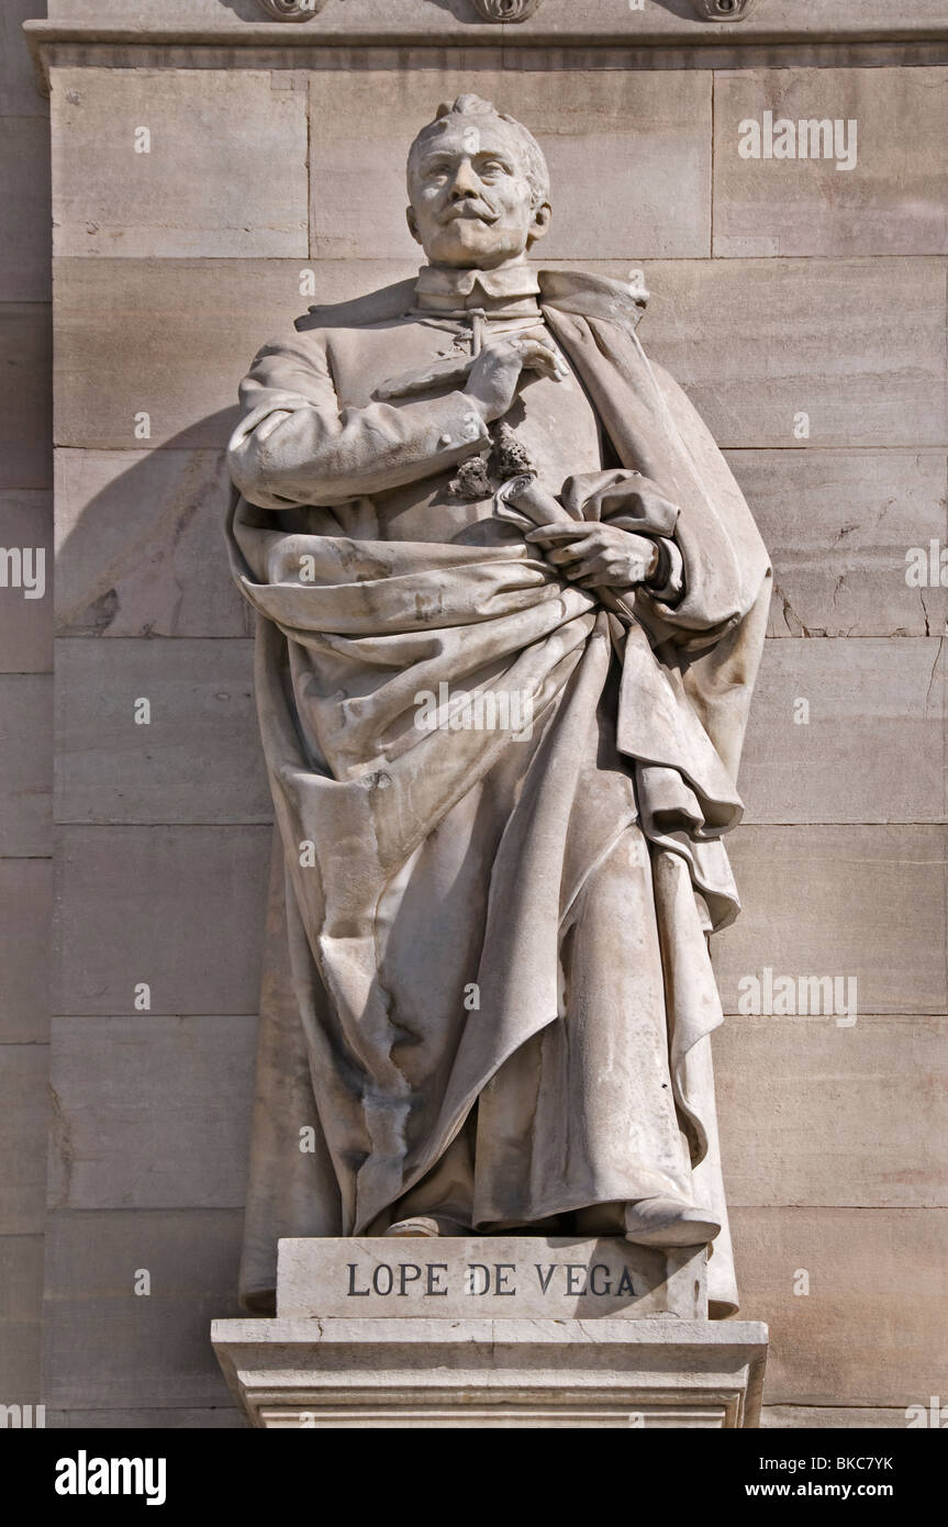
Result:
<svg viewBox="0 0 948 1527"><path fill-rule="evenodd" d="M285 1319L704 1319L704 1249L620 1237L307 1237L279 1241Z"/></svg>

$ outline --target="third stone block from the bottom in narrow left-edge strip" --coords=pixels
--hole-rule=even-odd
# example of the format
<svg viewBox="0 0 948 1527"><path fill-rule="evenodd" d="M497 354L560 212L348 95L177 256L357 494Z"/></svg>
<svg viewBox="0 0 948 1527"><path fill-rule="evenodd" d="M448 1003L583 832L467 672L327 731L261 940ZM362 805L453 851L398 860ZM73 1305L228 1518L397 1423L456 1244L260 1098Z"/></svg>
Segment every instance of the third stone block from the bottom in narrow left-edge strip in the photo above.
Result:
<svg viewBox="0 0 948 1527"><path fill-rule="evenodd" d="M35 1044L49 1034L49 933L53 872L47 858L0 858L0 1041Z"/></svg>

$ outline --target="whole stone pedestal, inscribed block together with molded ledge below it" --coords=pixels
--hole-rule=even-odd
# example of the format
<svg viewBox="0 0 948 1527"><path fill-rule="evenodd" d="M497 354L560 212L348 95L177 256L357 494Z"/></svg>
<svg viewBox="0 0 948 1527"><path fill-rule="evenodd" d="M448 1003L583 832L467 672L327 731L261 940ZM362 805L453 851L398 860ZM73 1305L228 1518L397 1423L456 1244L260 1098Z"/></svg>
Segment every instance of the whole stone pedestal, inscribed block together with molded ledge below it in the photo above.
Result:
<svg viewBox="0 0 948 1527"><path fill-rule="evenodd" d="M214 1321L261 1428L756 1426L766 1327L704 1252L543 1237L287 1240L273 1319Z"/></svg>

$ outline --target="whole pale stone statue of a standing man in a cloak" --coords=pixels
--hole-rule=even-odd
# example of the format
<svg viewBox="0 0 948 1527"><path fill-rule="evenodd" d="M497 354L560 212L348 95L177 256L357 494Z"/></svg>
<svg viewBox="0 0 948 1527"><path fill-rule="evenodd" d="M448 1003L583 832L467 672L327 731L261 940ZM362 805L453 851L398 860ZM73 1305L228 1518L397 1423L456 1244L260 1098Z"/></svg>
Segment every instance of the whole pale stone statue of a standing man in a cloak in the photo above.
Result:
<svg viewBox="0 0 948 1527"><path fill-rule="evenodd" d="M408 189L418 279L264 347L229 449L293 993L244 1296L278 1234L516 1229L713 1243L724 1313L707 933L766 553L644 293L528 264L531 134L461 96Z"/></svg>

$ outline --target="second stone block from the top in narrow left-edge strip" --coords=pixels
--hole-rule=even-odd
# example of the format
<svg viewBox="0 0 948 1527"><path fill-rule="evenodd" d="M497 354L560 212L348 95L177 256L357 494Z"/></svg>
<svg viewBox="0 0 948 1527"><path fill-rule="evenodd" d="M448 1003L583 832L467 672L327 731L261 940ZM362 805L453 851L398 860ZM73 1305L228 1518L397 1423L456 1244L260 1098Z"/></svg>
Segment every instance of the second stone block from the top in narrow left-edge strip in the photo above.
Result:
<svg viewBox="0 0 948 1527"><path fill-rule="evenodd" d="M0 218L0 299L47 302L49 124L41 116L0 116L0 163L6 199Z"/></svg>

